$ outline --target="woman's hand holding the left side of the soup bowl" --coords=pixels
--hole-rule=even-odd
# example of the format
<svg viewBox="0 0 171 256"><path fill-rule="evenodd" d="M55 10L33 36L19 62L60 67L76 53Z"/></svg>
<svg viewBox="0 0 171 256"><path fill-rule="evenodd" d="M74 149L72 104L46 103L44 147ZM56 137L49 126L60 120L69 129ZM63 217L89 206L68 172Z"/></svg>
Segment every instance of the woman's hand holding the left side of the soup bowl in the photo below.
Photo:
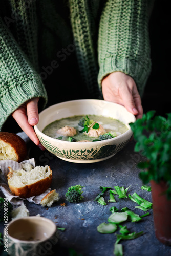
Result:
<svg viewBox="0 0 171 256"><path fill-rule="evenodd" d="M15 110L12 116L27 136L43 150L44 147L39 142L32 127L38 123L38 100L39 98L33 98L27 101Z"/></svg>

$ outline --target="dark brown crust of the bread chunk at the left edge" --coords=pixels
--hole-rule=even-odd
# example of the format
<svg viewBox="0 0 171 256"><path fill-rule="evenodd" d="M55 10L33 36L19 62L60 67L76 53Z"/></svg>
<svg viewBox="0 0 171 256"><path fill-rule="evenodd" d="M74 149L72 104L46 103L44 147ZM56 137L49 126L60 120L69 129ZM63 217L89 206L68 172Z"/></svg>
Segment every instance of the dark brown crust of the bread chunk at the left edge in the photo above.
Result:
<svg viewBox="0 0 171 256"><path fill-rule="evenodd" d="M12 147L16 153L16 162L22 162L27 156L27 146L25 141L17 134L0 132L0 140ZM7 160L11 160L10 158Z"/></svg>

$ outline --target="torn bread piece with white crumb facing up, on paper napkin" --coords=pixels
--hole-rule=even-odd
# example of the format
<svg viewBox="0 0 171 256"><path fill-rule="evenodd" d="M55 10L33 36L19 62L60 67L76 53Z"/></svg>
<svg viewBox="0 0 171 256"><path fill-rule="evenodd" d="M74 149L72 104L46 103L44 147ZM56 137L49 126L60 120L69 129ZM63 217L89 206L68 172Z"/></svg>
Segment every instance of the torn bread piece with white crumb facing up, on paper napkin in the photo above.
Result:
<svg viewBox="0 0 171 256"><path fill-rule="evenodd" d="M28 165L30 164L23 164L23 169L19 170L13 170L8 167L7 179L11 193L21 198L40 195L50 187L52 182L50 166L30 168Z"/></svg>

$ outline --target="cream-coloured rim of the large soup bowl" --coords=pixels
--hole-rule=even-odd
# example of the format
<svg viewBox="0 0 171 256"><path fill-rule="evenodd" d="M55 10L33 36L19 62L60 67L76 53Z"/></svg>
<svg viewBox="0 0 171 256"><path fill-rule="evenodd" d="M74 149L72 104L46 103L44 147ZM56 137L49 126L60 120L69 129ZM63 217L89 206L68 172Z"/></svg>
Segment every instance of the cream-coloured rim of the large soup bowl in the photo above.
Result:
<svg viewBox="0 0 171 256"><path fill-rule="evenodd" d="M60 102L60 103L57 103L57 104L54 104L54 105L51 105L51 106L49 106L48 108L46 108L46 109L44 109L44 110L42 110L40 113L39 113L39 115L40 114L43 114L44 112L46 112L48 109L50 109L50 108L52 108L52 107L54 107L55 108L55 106L56 105L62 105L62 104L65 104L65 103L72 103L72 102L78 102L78 101L89 101L89 100L95 100L95 101L105 101L106 103L112 103L112 104L115 104L115 105L119 105L119 107L120 108L124 108L125 110L126 110L126 108L123 106L123 105L120 105L120 104L118 104L118 103L115 103L115 102L111 102L111 101L106 101L106 100L100 100L100 99L78 99L78 100L69 100L69 101L63 101L63 102ZM127 111L127 110L126 110ZM127 112L129 112L129 111L127 111ZM134 122L136 121L136 118L135 118L135 116L131 113L131 112L129 112L133 117L134 117ZM119 119L118 119L119 120ZM125 124L125 123L124 123ZM48 124L47 124L48 125ZM83 142L83 144L84 145L90 145L90 143L93 143L93 144L100 144L100 143L102 143L102 144L106 144L106 141L115 141L115 140L118 140L118 138L120 138L120 137L123 137L123 136L125 136L125 135L127 135L127 134L130 134L130 135L132 135L133 134L133 132L132 132L132 130L131 130L131 127L130 127L130 125L127 123L127 124L125 124L126 126L127 126L127 128L128 128L128 130L126 131L126 132L124 132L123 134L120 134L120 135L118 135L118 136L116 136L116 137L114 137L114 138L111 138L111 139L108 139L108 140L99 140L99 141L90 141L90 142ZM46 127L46 126L45 126ZM48 135L46 135L46 134L44 134L44 133L42 133L39 129L38 129L38 127L37 127L37 125L34 125L34 130L35 130L35 133L36 133L36 130L39 132L39 134L40 135L42 135L42 136L44 136L46 139L51 139L53 142L62 142L62 143L67 143L68 145L69 145L69 143L72 143L73 144L73 142L71 142L71 141L65 141L65 140L58 140L58 139L55 139L55 138L52 138L52 137L50 137L50 136L48 136ZM74 142L74 144L80 144L81 142L78 142L78 141L76 141L76 142Z"/></svg>

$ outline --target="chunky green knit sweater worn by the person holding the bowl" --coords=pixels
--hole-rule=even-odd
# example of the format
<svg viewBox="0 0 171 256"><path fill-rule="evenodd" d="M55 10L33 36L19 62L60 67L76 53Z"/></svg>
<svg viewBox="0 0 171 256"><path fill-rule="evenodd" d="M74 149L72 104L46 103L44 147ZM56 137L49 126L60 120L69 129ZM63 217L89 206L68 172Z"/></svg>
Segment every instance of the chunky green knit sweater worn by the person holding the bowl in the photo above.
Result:
<svg viewBox="0 0 171 256"><path fill-rule="evenodd" d="M53 70L57 73L55 51L63 62L75 52L92 98L100 95L103 77L115 71L132 76L142 95L151 72L152 6L153 0L1 1L0 128L33 97L40 97L45 107L45 76ZM41 69L45 58L50 61L48 70Z"/></svg>

